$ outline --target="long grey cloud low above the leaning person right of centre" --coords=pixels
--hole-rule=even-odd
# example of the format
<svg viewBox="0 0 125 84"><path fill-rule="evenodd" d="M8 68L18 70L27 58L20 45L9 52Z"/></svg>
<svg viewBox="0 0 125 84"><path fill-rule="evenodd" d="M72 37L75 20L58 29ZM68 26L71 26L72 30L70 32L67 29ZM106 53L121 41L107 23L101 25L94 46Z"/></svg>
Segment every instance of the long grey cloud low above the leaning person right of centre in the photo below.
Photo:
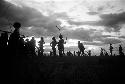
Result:
<svg viewBox="0 0 125 84"><path fill-rule="evenodd" d="M121 43L119 39L112 37L111 35L102 35L101 32L96 31L94 29L84 30L77 29L72 31L66 31L63 35L67 36L70 39L77 39L81 41L85 41L85 45L95 45L95 46L103 46L105 44L117 44Z"/></svg>

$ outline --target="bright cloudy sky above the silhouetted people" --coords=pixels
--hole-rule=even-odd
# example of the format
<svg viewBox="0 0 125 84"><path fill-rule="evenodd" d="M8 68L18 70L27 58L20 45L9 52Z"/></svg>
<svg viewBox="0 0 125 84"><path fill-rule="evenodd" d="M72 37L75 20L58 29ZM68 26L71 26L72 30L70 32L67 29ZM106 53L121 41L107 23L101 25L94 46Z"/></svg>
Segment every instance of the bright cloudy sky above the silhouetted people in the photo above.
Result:
<svg viewBox="0 0 125 84"><path fill-rule="evenodd" d="M12 31L15 21L22 24L21 34L37 41L43 36L46 52L60 32L68 38L66 51L77 51L78 41L93 54L101 47L108 51L110 43L114 53L119 44L125 51L125 0L0 0L0 29Z"/></svg>

